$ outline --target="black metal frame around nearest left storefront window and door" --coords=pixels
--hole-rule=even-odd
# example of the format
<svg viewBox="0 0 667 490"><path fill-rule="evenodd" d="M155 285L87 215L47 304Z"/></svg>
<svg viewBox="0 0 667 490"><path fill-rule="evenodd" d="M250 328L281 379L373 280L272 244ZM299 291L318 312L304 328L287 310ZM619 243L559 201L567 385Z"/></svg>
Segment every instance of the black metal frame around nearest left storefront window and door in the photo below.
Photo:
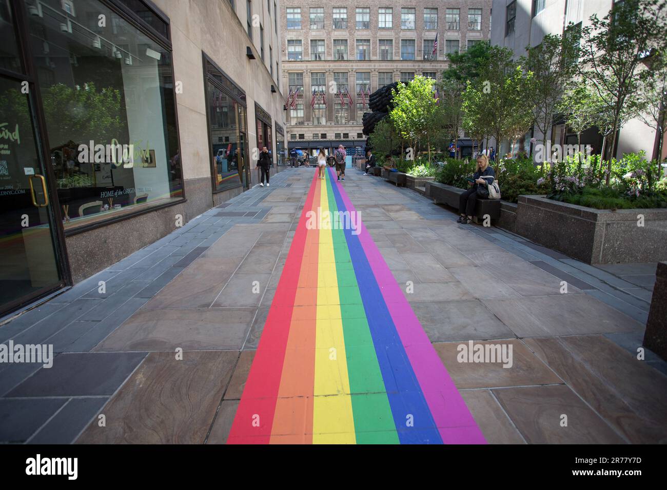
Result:
<svg viewBox="0 0 667 490"><path fill-rule="evenodd" d="M167 37L161 35L160 33L157 33L155 29L153 29L145 22L143 22L138 15L131 12L126 5L123 5L123 3L121 3L120 0L96 0L96 1L98 1L105 7L109 8L111 11L119 15L123 20L127 21L130 25L135 27L135 29L141 31L141 33L143 33L144 35L155 41L155 43L161 45L161 47L163 47L165 50L169 52L169 56L171 57L171 79L175 83L176 79L173 71L174 69L173 49L171 46L171 41L169 40L169 38L171 37L171 30L170 30L169 20L164 15L164 13L159 11L159 9L157 9L152 2L147 2L147 0L141 0L141 3L143 3L143 5L147 7L147 9L151 10L153 13L155 13L155 15L157 15L157 17L165 21L165 23L167 24L167 34L168 34ZM183 159L181 152L181 135L179 129L179 120L178 120L178 104L176 100L176 93L174 90L173 92L173 105L174 105L174 117L175 117L174 123L176 129L176 141L177 141L177 151L178 151L177 154L181 155L179 177L181 180L181 191L183 193L182 194L183 197L171 203L165 203L163 205L157 205L154 207L145 207L144 209L137 209L137 211L127 213L127 215L118 217L109 217L108 219L103 219L96 223L83 225L81 227L76 227L65 231L63 226L63 213L55 183L55 174L53 173L53 167L51 165L47 165L47 163L51 161L51 157L49 155L50 146L49 146L47 127L46 127L46 119L43 111L43 100L41 98L41 91L39 87L39 79L37 78L37 70L35 69L34 60L29 47L29 29L28 29L29 13L27 12L27 6L24 0L9 0L9 8L11 9L11 13L13 16L13 23L16 29L17 43L19 47L19 56L21 58L21 67L23 68L23 73L15 73L12 71L8 71L6 69L0 69L0 74L13 79L18 79L20 81L27 81L29 84L29 101L32 105L34 114L33 124L35 125L35 128L33 129L36 133L37 146L38 146L37 153L38 157L41 158L41 161L43 163L43 168L45 170L45 177L47 178L47 187L49 191L49 197L51 198L51 215L54 221L53 228L55 233L53 233L53 239L55 241L54 243L55 257L57 260L57 265L59 267L59 272L61 273L62 276L61 284L59 286L55 288L46 288L45 291L43 292L37 291L37 293L30 295L29 297L19 301L17 305L9 307L9 309L7 310L15 312L18 309L21 309L21 307L33 304L36 301L39 301L40 299L52 295L54 291L58 291L63 287L73 285L72 275L69 265L69 258L67 256L66 237L77 235L78 233L83 233L85 231L90 231L92 229L101 228L110 225L111 223L117 223L118 221L125 221L126 219L132 219L133 217L137 217L139 215L143 215L146 213L151 213L153 211L158 211L159 209L163 209L165 207L179 205L187 202L187 198L185 197L185 181L183 179Z"/></svg>

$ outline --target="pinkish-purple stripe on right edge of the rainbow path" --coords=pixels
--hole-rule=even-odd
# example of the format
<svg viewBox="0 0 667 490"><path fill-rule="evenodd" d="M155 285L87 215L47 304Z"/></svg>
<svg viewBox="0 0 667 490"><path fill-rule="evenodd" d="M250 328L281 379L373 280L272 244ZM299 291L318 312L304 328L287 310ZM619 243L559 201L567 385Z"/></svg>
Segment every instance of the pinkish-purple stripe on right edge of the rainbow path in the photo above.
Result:
<svg viewBox="0 0 667 490"><path fill-rule="evenodd" d="M340 195L348 211L356 211L342 186ZM362 217L363 220L363 217ZM359 239L380 285L396 330L445 444L485 444L486 439L466 407L436 349L403 295L392 271L361 221Z"/></svg>

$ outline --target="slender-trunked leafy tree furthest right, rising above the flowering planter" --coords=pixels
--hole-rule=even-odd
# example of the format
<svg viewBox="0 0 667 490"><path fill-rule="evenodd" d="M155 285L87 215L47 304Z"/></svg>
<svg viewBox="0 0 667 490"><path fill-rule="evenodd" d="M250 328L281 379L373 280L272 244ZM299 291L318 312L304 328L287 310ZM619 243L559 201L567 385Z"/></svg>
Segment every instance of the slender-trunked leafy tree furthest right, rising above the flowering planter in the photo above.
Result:
<svg viewBox="0 0 667 490"><path fill-rule="evenodd" d="M578 74L610 108L612 128L607 142L609 183L618 131L639 115L642 87L652 71L641 69L647 53L662 51L667 39L665 0L617 2L603 18L590 17L582 29Z"/></svg>

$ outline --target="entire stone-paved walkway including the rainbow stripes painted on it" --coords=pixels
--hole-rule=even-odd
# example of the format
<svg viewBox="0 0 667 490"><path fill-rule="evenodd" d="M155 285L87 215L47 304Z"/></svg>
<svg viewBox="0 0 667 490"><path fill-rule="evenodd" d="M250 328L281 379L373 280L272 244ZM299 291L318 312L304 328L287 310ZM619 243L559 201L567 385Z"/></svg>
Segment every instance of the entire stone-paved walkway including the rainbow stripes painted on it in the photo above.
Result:
<svg viewBox="0 0 667 490"><path fill-rule="evenodd" d="M651 265L591 267L378 177L313 173L0 327L57 353L0 365L0 441L667 440L667 369L637 359ZM307 227L318 207L361 233Z"/></svg>

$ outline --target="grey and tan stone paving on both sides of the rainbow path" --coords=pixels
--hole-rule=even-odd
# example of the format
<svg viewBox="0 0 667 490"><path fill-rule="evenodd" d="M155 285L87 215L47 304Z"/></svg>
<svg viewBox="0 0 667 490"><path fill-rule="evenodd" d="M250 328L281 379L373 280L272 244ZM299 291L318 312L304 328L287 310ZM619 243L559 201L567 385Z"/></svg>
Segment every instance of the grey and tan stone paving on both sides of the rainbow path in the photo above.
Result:
<svg viewBox="0 0 667 490"><path fill-rule="evenodd" d="M226 442L273 297L297 274L284 266L313 172L285 169L271 187L207 211L0 327L0 343L53 344L58 353L51 369L0 364L0 441ZM648 351L646 360L636 359L654 264L592 267L495 227L458 225L455 214L425 197L352 169L340 187L374 242L362 253L348 241L349 261L386 263L396 280L390 286L403 291L488 443L667 441L665 363ZM332 196L329 203L343 202L342 194ZM336 235L332 240L337 254L348 250ZM362 296L378 270L356 274ZM315 289L319 304L323 285ZM390 311L394 303L382 304ZM468 341L511 345L512 367L458 362L458 347ZM261 393L265 387L255 383L271 379L262 367L269 351L260 351L247 393ZM420 381L415 361L397 367L390 357L388 365L395 379L412 368ZM387 375L378 378L385 386ZM352 394L354 408L355 394L371 393L342 395ZM387 389L390 404L392 393ZM295 407L285 413L303 419ZM357 430L359 442L364 431Z"/></svg>

